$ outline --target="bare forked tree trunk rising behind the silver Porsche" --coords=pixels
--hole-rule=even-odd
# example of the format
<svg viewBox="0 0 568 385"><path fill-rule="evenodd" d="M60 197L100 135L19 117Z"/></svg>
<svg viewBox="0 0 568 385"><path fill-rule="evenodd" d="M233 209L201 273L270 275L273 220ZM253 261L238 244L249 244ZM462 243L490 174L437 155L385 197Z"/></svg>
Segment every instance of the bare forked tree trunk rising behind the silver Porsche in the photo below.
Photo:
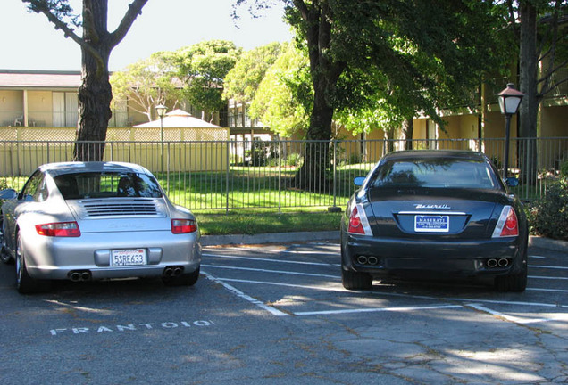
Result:
<svg viewBox="0 0 568 385"><path fill-rule="evenodd" d="M113 48L126 36L147 1L133 0L118 27L110 32L108 0L83 0L80 15L73 11L69 0L22 0L29 3L30 11L45 14L55 29L61 29L63 35L71 37L81 49L82 83L74 160L103 159L113 99L108 61ZM75 29L82 30L81 37Z"/></svg>

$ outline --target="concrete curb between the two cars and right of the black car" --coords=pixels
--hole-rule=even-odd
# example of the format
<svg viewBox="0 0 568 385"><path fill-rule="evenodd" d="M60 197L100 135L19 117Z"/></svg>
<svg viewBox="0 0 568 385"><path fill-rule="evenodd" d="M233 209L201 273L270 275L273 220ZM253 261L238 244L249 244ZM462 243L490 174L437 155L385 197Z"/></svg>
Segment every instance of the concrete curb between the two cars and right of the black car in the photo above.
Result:
<svg viewBox="0 0 568 385"><path fill-rule="evenodd" d="M204 235L203 237L201 237L201 244L203 246L322 241L339 242L339 232L328 231L313 233L263 233L256 235ZM529 246L568 253L568 242L566 241L556 241L531 235L529 237Z"/></svg>

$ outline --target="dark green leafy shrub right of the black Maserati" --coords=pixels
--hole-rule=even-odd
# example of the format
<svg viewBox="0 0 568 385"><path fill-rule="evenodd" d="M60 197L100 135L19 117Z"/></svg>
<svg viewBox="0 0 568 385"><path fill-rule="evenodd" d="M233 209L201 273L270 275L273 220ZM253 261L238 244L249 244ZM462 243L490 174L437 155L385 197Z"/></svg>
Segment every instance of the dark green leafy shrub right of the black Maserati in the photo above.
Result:
<svg viewBox="0 0 568 385"><path fill-rule="evenodd" d="M568 241L568 178L547 186L547 192L527 210L530 232Z"/></svg>

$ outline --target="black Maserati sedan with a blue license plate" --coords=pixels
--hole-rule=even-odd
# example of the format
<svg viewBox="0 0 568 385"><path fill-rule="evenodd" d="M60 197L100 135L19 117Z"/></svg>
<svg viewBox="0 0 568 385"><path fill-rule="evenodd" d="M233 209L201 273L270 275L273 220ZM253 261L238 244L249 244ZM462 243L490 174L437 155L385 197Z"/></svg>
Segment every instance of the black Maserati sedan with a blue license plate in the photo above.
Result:
<svg viewBox="0 0 568 385"><path fill-rule="evenodd" d="M514 184L514 179L508 179ZM345 288L388 275L489 277L498 291L527 285L522 203L480 152L390 152L355 184L341 223Z"/></svg>

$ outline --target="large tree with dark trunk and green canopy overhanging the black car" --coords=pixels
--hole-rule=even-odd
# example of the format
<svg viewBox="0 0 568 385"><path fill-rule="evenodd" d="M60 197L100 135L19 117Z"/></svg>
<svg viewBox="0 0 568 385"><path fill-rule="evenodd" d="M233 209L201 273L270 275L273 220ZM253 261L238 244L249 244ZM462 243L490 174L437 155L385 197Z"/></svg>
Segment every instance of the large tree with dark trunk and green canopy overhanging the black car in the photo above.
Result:
<svg viewBox="0 0 568 385"><path fill-rule="evenodd" d="M266 6L271 0L238 0ZM485 40L493 27L491 1L281 0L288 23L308 52L313 109L306 139L329 141L335 111L362 99L365 71L386 78L398 95L418 98L426 111L439 107L439 84L463 92L480 82L480 58L490 57ZM435 6L434 6L435 5ZM485 54L484 54L485 53ZM438 64L436 64L438 63ZM441 64L440 64L441 63ZM431 69L437 70L434 74ZM360 76L362 75L363 76ZM422 94L418 91L423 91ZM383 94L388 94L385 90ZM400 96L398 96L400 97ZM364 99L364 97L363 97ZM419 102L406 105L418 106ZM323 145L305 159L300 180L322 178Z"/></svg>

